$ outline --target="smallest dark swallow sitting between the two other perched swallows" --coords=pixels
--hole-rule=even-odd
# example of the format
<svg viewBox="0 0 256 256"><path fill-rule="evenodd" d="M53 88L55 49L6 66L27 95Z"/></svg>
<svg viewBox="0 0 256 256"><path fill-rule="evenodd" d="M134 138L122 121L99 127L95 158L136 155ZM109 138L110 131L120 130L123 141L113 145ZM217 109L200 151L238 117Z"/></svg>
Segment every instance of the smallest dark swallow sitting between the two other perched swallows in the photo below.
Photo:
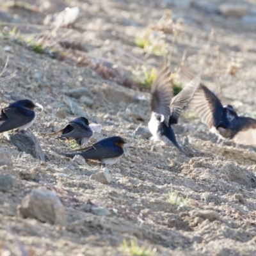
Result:
<svg viewBox="0 0 256 256"><path fill-rule="evenodd" d="M48 136L57 136L57 139L65 140L65 139L74 139L77 144L83 146L87 145L88 141L92 137L92 129L89 126L89 122L85 117L77 117L74 120L70 121L68 125Z"/></svg>

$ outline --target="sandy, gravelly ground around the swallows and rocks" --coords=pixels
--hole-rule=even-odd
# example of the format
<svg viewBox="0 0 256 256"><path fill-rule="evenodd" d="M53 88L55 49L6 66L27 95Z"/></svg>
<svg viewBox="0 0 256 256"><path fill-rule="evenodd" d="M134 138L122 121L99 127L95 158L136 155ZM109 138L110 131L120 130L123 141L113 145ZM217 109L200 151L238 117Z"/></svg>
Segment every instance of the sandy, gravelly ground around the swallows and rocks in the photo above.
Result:
<svg viewBox="0 0 256 256"><path fill-rule="evenodd" d="M26 1L38 8L28 10L13 8L11 1L9 5L0 1L1 20L16 22L21 35L49 35L51 29L43 26L47 14L60 12L70 6L68 3L79 6L83 17L74 28L60 28L53 33L49 44L60 50L58 41L75 40L85 50L61 49L66 58L60 61L49 54L36 54L10 38L0 38L1 67L10 56L6 74L17 70L15 77L0 86L1 108L12 101L8 95L12 90L17 97L42 104L44 111L37 113L31 131L45 152L45 162L20 154L0 135L1 147L12 154L13 161L13 170L4 174L15 180L12 190L0 192L1 255L11 255L6 246L17 255L20 253L8 228L31 255L125 255L124 239L138 239L140 245L155 248L154 255L256 254L255 148L229 141L217 144L216 136L189 110L182 113L175 126L180 144L188 138L184 148L189 157L180 156L172 145L141 138L134 131L147 125L149 93L109 81L92 68L79 65L79 60L81 64L86 58L104 58L128 74L133 72L131 76L140 77L142 65L148 70L158 67L163 58L145 53L134 44L134 38L148 24L156 24L166 10L172 10L174 20L184 19L184 31L173 51L172 68L179 65L188 49L186 65L196 73L208 74L203 78L215 92L221 83L223 103L232 104L244 115L256 116L256 26L215 13L214 7L222 1L207 5L207 1L194 1L190 6L187 1L177 2L38 0ZM250 4L251 10L256 8L253 1L236 1L242 2ZM1 31L4 26L12 30L15 24L1 24ZM210 36L212 28L214 34ZM218 45L220 61L216 60ZM232 58L241 63L234 76L225 72ZM88 88L89 96L68 96L70 90L79 87ZM139 113L140 118L127 115L130 112ZM109 167L109 185L89 179L100 171L99 162L86 161L83 166L74 163L58 155L72 149L69 143L45 137L76 116L101 124L100 138L120 135L129 142L124 157ZM34 180L20 174L35 167ZM67 225L51 225L17 214L22 198L31 189L42 186L56 191L65 206ZM187 204L167 202L171 189L179 197L188 196ZM108 209L110 214L94 214L88 211L90 204Z"/></svg>

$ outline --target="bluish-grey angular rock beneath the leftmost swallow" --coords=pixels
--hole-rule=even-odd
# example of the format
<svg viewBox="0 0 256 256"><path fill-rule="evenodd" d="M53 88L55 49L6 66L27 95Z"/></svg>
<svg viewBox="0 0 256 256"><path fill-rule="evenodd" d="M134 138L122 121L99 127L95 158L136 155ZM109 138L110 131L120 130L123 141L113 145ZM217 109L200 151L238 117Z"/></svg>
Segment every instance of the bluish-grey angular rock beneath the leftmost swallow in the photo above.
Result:
<svg viewBox="0 0 256 256"><path fill-rule="evenodd" d="M33 132L22 130L10 133L10 142L16 146L19 151L26 152L37 159L45 161L44 152Z"/></svg>

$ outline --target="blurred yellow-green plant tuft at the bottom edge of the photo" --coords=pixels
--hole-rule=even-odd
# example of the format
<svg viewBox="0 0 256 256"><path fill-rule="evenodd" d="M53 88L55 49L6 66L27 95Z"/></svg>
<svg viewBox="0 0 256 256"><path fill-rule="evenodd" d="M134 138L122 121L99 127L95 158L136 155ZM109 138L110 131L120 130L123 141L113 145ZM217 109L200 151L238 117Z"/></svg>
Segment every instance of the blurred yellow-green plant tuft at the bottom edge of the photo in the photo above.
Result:
<svg viewBox="0 0 256 256"><path fill-rule="evenodd" d="M153 250L150 248L145 248L145 246L138 246L137 239L133 239L128 243L126 240L123 241L121 246L124 255L129 256L152 256L156 252L156 248Z"/></svg>

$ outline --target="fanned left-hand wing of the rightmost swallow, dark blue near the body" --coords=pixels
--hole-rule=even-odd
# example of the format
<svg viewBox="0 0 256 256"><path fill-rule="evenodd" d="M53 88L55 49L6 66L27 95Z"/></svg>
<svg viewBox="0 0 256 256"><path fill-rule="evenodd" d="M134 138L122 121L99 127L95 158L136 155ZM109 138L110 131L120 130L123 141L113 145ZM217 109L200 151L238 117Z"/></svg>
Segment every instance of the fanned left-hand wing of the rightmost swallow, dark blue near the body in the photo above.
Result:
<svg viewBox="0 0 256 256"><path fill-rule="evenodd" d="M188 81L195 77L187 68L181 67L180 69L182 80ZM191 99L190 106L195 109L201 121L210 129L220 123L223 106L218 97L204 84L201 83L198 90L196 90L194 97Z"/></svg>

